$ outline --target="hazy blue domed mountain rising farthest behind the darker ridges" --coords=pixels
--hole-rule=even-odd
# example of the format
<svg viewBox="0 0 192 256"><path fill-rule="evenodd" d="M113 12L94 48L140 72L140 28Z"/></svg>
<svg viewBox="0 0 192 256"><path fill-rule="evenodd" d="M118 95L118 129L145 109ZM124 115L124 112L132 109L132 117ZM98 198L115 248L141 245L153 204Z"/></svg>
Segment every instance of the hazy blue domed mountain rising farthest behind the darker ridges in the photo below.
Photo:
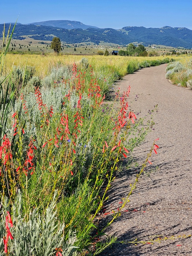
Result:
<svg viewBox="0 0 192 256"><path fill-rule="evenodd" d="M92 27L94 29L98 29L98 27L84 25L80 21L72 21L72 20L48 20L42 22L34 22L29 23L27 25L41 25L41 26L50 26L50 27L61 27L62 29L88 29L88 27Z"/></svg>

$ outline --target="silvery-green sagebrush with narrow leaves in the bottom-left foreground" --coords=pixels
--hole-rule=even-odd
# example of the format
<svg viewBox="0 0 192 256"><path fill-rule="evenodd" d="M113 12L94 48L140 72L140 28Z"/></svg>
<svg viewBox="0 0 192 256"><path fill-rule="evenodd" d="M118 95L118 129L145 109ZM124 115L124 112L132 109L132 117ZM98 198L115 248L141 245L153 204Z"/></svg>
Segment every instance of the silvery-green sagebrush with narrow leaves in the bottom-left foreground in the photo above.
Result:
<svg viewBox="0 0 192 256"><path fill-rule="evenodd" d="M69 232L69 238L65 241L64 227L58 221L55 196L43 214L35 209L30 212L29 219L22 215L22 195L18 194L12 206L13 227L10 228L13 240L8 240L8 252L11 256L52 256L56 248L62 249L63 256L76 256L75 233ZM6 236L5 216L8 204L4 204L0 218L0 255L3 254L3 237Z"/></svg>

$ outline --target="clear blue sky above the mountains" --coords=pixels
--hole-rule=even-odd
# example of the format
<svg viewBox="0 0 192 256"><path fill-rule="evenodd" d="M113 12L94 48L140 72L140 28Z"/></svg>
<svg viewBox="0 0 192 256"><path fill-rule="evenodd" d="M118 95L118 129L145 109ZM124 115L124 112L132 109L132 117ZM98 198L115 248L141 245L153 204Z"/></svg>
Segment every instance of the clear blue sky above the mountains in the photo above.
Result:
<svg viewBox="0 0 192 256"><path fill-rule="evenodd" d="M0 23L75 20L99 28L125 26L192 29L191 0L2 0Z"/></svg>

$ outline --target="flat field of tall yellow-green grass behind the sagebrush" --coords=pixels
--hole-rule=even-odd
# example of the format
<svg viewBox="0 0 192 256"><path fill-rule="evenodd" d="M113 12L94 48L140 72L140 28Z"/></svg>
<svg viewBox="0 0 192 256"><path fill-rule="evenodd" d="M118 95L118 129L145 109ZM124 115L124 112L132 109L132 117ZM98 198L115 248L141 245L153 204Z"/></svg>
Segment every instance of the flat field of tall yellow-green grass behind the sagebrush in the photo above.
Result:
<svg viewBox="0 0 192 256"><path fill-rule="evenodd" d="M130 62L144 60L158 60L163 59L165 56L158 57L124 57L124 56L83 56L83 55L58 55L47 54L45 56L39 54L7 54L5 67L7 71L11 70L12 65L24 67L26 64L35 67L36 75L40 78L44 78L49 74L52 67L57 65L72 65L74 62L78 64L82 57L89 60L89 64L93 69L100 68L102 66L115 67L123 76L127 74L127 65ZM188 59L187 56L168 56L173 59Z"/></svg>

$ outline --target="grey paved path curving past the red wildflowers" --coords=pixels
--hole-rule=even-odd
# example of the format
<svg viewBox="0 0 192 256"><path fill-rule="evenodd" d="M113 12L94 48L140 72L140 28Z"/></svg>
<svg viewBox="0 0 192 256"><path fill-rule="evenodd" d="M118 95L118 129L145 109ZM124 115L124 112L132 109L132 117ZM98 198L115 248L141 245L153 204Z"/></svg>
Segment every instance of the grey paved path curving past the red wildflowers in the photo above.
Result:
<svg viewBox="0 0 192 256"><path fill-rule="evenodd" d="M154 130L133 153L139 166L117 175L106 212L117 211L157 138L159 148L157 155L151 155L153 164L147 164L121 216L106 230L124 243L113 244L102 256L192 255L192 238L184 238L192 234L192 91L169 83L165 67L144 68L117 82L121 92L131 86L129 105L135 113L141 111L138 117L157 104L158 112ZM110 214L103 218L111 219ZM174 239L165 240L172 236ZM127 243L136 239L148 242ZM151 239L160 242L152 244Z"/></svg>

